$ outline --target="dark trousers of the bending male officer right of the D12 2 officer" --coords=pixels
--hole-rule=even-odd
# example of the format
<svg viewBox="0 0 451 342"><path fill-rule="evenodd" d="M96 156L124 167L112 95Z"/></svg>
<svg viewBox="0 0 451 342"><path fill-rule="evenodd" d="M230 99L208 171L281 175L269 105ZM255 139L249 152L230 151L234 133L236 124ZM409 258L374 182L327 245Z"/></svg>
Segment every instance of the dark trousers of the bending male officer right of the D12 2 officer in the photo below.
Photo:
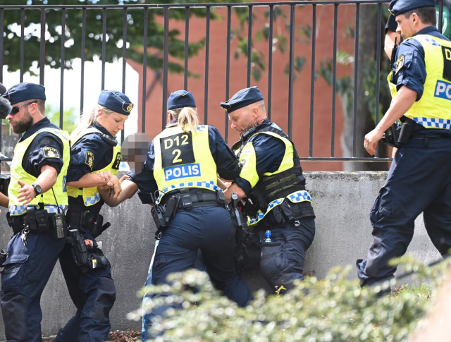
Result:
<svg viewBox="0 0 451 342"><path fill-rule="evenodd" d="M271 231L271 243L264 243L265 232ZM260 271L268 285L276 291L280 286L292 289L295 280L304 276L305 253L315 237L315 219L298 219L295 224L267 227L258 230L261 241Z"/></svg>

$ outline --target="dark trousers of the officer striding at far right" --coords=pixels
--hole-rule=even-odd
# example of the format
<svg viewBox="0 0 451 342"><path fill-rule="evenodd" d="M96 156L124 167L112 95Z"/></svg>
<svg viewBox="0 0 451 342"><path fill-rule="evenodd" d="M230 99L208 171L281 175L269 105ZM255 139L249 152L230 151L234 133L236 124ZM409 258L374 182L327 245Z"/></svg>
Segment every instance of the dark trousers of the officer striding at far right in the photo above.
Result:
<svg viewBox="0 0 451 342"><path fill-rule="evenodd" d="M414 221L423 212L424 225L435 248L451 248L451 133L425 140L416 133L397 150L387 181L370 219L373 243L366 259L357 260L362 286L393 279L390 259L401 257L414 236Z"/></svg>

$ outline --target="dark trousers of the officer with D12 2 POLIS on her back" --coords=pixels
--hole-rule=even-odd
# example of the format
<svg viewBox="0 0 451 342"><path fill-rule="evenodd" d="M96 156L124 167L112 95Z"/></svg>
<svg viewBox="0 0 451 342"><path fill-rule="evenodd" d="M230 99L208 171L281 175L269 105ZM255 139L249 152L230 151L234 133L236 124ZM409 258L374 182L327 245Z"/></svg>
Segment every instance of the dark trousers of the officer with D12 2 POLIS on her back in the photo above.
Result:
<svg viewBox="0 0 451 342"><path fill-rule="evenodd" d="M214 286L238 305L245 306L252 300L252 294L235 271L235 230L224 207L180 210L161 234L152 267L152 284L166 283L168 274L194 268L200 249ZM167 309L158 307L144 314L143 341L153 338L149 331L152 319Z"/></svg>

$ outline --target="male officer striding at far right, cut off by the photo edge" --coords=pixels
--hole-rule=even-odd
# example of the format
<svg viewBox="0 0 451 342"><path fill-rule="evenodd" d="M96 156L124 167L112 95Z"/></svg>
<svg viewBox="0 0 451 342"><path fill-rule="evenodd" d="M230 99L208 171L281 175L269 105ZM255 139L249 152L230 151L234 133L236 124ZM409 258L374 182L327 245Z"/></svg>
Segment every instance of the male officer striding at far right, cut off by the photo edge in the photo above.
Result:
<svg viewBox="0 0 451 342"><path fill-rule="evenodd" d="M362 286L393 279L396 268L388 262L406 252L421 212L435 248L442 255L451 248L451 42L435 27L434 6L433 0L390 3L404 42L388 77L392 104L365 136L366 151L375 154L395 121L402 126L395 159L370 214L373 243L366 259L357 260Z"/></svg>

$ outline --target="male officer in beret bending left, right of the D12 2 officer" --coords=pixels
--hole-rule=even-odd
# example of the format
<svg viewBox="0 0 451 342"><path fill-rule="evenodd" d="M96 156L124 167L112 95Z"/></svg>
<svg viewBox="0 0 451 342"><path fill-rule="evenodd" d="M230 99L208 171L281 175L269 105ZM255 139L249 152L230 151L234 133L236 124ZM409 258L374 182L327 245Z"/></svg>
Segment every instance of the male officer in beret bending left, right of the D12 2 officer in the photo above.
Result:
<svg viewBox="0 0 451 342"><path fill-rule="evenodd" d="M266 118L258 87L240 90L221 106L241 135L233 149L242 169L226 190L226 200L232 193L238 200L246 196L247 224L261 246L261 273L274 291L281 286L289 290L295 280L304 279L305 252L315 236L315 215L295 145Z"/></svg>

